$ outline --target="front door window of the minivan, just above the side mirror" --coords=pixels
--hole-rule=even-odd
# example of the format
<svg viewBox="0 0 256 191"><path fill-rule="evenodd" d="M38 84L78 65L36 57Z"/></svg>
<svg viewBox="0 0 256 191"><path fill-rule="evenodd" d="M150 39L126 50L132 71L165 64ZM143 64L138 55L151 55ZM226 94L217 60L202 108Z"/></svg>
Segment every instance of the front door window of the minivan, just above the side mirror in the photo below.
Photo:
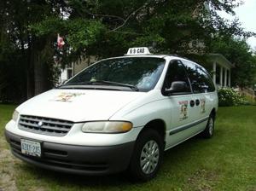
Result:
<svg viewBox="0 0 256 191"><path fill-rule="evenodd" d="M166 79L164 83L165 89L170 89L173 82L183 81L187 84L187 93L190 93L189 79L187 77L187 73L185 68L183 67L183 63L181 61L171 61L166 72Z"/></svg>

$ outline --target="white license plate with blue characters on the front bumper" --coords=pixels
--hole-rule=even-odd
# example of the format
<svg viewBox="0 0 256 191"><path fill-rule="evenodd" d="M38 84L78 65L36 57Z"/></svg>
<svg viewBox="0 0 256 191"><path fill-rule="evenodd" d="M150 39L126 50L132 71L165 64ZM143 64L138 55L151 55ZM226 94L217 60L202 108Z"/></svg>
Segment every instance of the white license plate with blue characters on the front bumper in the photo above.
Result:
<svg viewBox="0 0 256 191"><path fill-rule="evenodd" d="M21 153L41 157L41 144L40 142L33 142L26 139L20 139Z"/></svg>

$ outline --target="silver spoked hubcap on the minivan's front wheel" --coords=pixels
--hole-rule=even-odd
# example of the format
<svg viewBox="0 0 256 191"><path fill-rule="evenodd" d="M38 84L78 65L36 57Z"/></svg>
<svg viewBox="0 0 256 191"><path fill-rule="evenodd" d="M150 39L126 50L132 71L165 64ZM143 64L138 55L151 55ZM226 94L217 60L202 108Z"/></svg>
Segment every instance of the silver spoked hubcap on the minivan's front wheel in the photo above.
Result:
<svg viewBox="0 0 256 191"><path fill-rule="evenodd" d="M159 162L159 146L154 140L146 142L141 153L141 168L145 174L152 173Z"/></svg>

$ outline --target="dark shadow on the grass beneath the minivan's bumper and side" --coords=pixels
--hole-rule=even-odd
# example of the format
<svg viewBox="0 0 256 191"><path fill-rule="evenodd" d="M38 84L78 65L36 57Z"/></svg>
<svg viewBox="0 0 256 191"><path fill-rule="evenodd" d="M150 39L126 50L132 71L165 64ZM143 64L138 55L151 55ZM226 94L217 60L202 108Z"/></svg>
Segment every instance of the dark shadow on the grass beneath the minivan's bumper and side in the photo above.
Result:
<svg viewBox="0 0 256 191"><path fill-rule="evenodd" d="M153 180L157 181L160 178L164 178L166 173L174 172L172 169L172 165L183 166L183 163L187 163L189 158L191 157L191 153L195 152L197 149L201 149L200 145L204 144L204 139L195 136L189 139L182 144L169 149L165 152L164 161L161 165L158 176ZM195 156L195 154L194 154ZM188 164L186 164L188 165ZM108 188L108 187L126 187L134 185L142 185L143 182L132 182L129 178L127 172L121 172L119 174L108 175L108 176L97 176L97 177L87 177L87 176L79 176L73 174L66 174L56 171L48 171L44 169L40 169L38 167L34 167L32 165L19 165L21 171L26 171L32 176L33 179L40 179L44 182L52 182L53 184L61 185L61 187L65 186L74 186L74 187L90 187L90 188Z"/></svg>

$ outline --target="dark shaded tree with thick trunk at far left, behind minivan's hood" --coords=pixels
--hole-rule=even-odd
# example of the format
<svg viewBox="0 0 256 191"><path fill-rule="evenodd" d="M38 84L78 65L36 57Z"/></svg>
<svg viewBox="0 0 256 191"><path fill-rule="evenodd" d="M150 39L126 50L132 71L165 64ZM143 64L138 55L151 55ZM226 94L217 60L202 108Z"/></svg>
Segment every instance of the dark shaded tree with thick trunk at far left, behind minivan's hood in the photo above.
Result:
<svg viewBox="0 0 256 191"><path fill-rule="evenodd" d="M24 68L24 70L20 70L20 75L24 71L26 73L26 79L22 80L26 81L26 86L24 87L24 90L26 90L25 97L29 98L42 92L42 90L48 90L50 86L47 84L48 76L45 75L47 73L47 65L45 63L47 63L50 57L46 53L51 51L42 52L42 49L46 49L48 41L45 41L42 37L38 39L32 34L29 26L41 20L42 15L47 14L47 11L50 12L51 8L47 4L44 6L42 1L34 3L32 1L18 0L12 2L3 1L1 2L1 8L1 18L4 26L3 33L7 37L9 47L13 47L15 54L18 54L12 56L21 58L16 60L17 63L15 62L14 66L19 64ZM1 54L3 55L4 53L1 52ZM42 56L44 56L44 60ZM14 66L13 69L15 69ZM40 73L44 73L44 75L40 75ZM11 75L11 72L9 75ZM38 90L38 86L43 87L41 90ZM24 90L21 91L23 92ZM22 95L24 94L22 93ZM23 100L23 97L20 97L20 100Z"/></svg>

